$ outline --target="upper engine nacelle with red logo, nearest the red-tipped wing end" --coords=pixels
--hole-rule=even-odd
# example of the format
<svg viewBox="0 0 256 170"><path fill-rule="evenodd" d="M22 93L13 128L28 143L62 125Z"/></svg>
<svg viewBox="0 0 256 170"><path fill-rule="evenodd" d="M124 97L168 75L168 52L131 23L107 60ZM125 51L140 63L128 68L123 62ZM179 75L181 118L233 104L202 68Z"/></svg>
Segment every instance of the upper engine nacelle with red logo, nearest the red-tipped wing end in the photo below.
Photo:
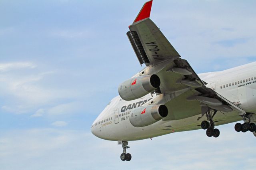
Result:
<svg viewBox="0 0 256 170"><path fill-rule="evenodd" d="M126 101L135 100L154 91L160 86L157 75L142 75L128 79L118 87L118 93Z"/></svg>

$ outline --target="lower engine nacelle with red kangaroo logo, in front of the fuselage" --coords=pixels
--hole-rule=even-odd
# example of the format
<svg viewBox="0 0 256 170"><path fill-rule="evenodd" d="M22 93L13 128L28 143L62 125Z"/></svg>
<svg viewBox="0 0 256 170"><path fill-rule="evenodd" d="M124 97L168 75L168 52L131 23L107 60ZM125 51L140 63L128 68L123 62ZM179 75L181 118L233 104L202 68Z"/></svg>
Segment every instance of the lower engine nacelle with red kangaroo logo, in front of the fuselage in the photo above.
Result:
<svg viewBox="0 0 256 170"><path fill-rule="evenodd" d="M160 121L168 115L165 105L138 107L132 111L129 120L134 127L145 127Z"/></svg>

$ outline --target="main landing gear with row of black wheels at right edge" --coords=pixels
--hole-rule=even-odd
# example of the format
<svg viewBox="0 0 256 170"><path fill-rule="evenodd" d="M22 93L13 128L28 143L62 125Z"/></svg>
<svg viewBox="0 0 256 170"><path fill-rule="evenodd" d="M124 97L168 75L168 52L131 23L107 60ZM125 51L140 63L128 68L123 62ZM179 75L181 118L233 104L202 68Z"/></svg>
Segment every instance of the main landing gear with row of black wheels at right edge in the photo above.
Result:
<svg viewBox="0 0 256 170"><path fill-rule="evenodd" d="M255 132L256 131L256 125L255 123L251 123L251 119L252 117L255 117L255 115L243 115L243 120L244 120L244 123L241 124L241 123L236 123L235 125L235 130L237 132L247 132L247 131L250 131L250 132Z"/></svg>

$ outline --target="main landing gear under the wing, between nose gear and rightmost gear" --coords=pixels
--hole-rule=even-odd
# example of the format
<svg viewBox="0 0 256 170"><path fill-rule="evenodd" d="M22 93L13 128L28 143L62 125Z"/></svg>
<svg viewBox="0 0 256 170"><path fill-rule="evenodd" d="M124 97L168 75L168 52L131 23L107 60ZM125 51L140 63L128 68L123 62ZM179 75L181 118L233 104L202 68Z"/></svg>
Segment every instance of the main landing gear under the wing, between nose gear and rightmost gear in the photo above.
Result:
<svg viewBox="0 0 256 170"><path fill-rule="evenodd" d="M206 114L208 121L202 121L202 123L201 123L201 128L204 130L207 129L206 135L208 137L213 136L214 138L217 138L218 136L220 136L220 130L217 128L214 128L213 117L216 113L217 113L217 111L215 110L213 115L211 115L210 111L207 111L205 114Z"/></svg>

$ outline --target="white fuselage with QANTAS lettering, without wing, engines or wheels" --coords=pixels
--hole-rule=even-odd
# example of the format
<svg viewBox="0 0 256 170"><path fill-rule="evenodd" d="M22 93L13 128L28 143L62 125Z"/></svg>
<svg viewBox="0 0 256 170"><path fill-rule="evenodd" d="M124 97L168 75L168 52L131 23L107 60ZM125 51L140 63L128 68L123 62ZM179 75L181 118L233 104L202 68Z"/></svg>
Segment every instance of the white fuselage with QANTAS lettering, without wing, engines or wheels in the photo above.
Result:
<svg viewBox="0 0 256 170"><path fill-rule="evenodd" d="M241 65L224 71L199 74L210 87L229 101L249 113L256 112L256 62ZM156 97L148 94L140 99L124 101L114 97L94 121L91 131L95 136L106 140L130 141L151 138L172 132L200 129L200 115L185 119L160 120L146 127L134 127L129 121L132 109L144 105ZM135 105L136 104L136 105ZM238 115L216 114L216 125L223 125L242 120Z"/></svg>

